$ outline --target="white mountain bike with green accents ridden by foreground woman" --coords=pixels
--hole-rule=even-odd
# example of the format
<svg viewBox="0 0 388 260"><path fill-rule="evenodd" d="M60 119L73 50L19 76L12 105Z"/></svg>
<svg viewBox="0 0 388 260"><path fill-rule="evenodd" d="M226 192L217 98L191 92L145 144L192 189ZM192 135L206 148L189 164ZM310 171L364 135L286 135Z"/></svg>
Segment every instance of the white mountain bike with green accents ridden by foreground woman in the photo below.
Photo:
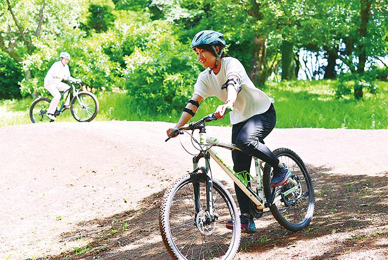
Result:
<svg viewBox="0 0 388 260"><path fill-rule="evenodd" d="M209 114L172 132L172 136L189 133L199 150L193 157L194 170L166 190L160 205L159 227L172 259L231 260L239 248L240 216L229 191L212 178L210 157L250 198L249 225L262 216L263 208L269 208L283 228L297 232L310 224L314 213L313 184L305 163L295 152L287 148L273 152L280 162L287 164L292 176L282 186L271 188L273 168L268 163L253 157L254 178L246 171L236 173L216 153L214 146L241 150L235 144L206 136L205 123L214 120L215 114ZM194 130L199 130L199 142L194 138ZM198 167L201 158L205 160L204 167ZM225 227L230 220L232 230Z"/></svg>

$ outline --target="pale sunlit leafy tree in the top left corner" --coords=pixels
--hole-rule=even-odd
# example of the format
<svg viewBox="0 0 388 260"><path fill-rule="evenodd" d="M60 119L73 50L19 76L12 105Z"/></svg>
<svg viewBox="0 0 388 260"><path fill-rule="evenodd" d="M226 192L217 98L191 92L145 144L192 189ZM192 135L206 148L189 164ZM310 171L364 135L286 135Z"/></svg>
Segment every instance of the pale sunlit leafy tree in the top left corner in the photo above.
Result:
<svg viewBox="0 0 388 260"><path fill-rule="evenodd" d="M0 1L0 48L22 65L25 78L19 84L23 94L43 90L43 82L39 82L34 72L47 67L46 61L58 56L64 43L82 35L78 27L85 2Z"/></svg>

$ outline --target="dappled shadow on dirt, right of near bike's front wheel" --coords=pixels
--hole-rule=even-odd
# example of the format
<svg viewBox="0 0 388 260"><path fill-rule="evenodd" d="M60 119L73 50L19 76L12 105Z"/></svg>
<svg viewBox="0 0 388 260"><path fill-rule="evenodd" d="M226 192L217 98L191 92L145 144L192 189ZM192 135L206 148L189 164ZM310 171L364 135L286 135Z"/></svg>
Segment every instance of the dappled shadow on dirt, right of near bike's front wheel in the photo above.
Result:
<svg viewBox="0 0 388 260"><path fill-rule="evenodd" d="M351 251L382 247L376 241L388 234L385 228L388 172L379 173L378 176L352 176L329 174L332 171L330 168L312 165L307 165L307 168L315 191L315 211L310 226L298 233L289 232L277 224L269 212L262 218L270 222L268 226L258 229L256 234L244 236L240 250L265 255L274 248L292 249L298 243L321 237L317 243L324 243L324 253L311 258L318 260L335 259ZM335 233L343 233L343 239L330 238ZM304 250L310 249L306 246Z"/></svg>

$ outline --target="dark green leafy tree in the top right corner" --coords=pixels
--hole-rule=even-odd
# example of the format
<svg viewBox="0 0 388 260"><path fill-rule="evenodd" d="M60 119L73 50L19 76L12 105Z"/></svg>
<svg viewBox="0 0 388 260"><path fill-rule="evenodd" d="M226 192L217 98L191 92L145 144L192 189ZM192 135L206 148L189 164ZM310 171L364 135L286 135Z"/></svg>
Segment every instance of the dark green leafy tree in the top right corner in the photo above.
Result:
<svg viewBox="0 0 388 260"><path fill-rule="evenodd" d="M355 81L354 95L361 99L362 86L366 84L360 82L373 78L370 73L364 73L366 63L370 65L373 59L387 53L388 25L384 1L334 0L317 5L315 0L309 0L306 5L312 17L302 27L306 29L310 24L311 31L306 33L306 38L316 43L316 49L327 53L325 78L333 78L336 61L340 60L341 67L345 66L351 72L351 76L344 78Z"/></svg>

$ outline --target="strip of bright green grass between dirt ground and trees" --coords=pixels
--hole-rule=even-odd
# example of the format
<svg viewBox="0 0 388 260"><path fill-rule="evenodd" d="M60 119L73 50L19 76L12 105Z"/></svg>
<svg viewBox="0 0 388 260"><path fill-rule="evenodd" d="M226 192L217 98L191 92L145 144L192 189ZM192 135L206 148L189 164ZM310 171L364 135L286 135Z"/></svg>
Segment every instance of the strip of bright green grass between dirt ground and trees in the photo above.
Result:
<svg viewBox="0 0 388 260"><path fill-rule="evenodd" d="M334 87L337 81L284 81L268 83L263 89L275 98L277 128L349 128L387 129L388 128L388 82L378 82L376 95L364 93L363 101L355 101L353 96L337 99ZM365 92L365 91L364 91ZM152 113L147 107L139 107L131 102L125 93L104 92L97 95L100 111L96 121L166 121L177 122L181 111ZM0 101L0 127L30 124L28 109L32 99ZM208 98L202 104L193 120L211 113L221 102ZM65 111L57 119L59 122L76 122ZM211 125L228 126L228 115Z"/></svg>

